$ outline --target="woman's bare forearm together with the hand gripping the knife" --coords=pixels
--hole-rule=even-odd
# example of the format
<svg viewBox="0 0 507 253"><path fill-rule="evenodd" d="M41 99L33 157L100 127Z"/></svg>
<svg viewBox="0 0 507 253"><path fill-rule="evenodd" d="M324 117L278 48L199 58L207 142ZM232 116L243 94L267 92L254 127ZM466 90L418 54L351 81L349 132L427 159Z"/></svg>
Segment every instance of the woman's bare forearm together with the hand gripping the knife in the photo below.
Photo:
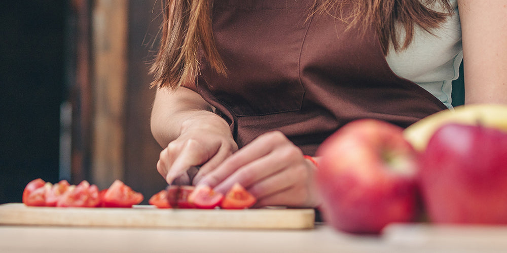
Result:
<svg viewBox="0 0 507 253"><path fill-rule="evenodd" d="M197 176L212 171L238 149L227 122L191 89L158 89L152 109L151 129L164 149L158 172L172 183L191 166L201 166ZM183 178L183 183L190 180Z"/></svg>

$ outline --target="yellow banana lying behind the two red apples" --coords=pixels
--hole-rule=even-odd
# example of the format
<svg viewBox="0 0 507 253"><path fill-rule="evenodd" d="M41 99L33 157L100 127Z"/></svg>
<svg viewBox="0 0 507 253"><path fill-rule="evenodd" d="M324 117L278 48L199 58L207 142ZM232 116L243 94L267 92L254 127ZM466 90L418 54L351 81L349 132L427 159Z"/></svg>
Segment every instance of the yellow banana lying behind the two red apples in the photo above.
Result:
<svg viewBox="0 0 507 253"><path fill-rule="evenodd" d="M416 150L422 151L433 133L446 123L481 124L507 132L507 106L493 104L472 104L457 106L429 115L403 132Z"/></svg>

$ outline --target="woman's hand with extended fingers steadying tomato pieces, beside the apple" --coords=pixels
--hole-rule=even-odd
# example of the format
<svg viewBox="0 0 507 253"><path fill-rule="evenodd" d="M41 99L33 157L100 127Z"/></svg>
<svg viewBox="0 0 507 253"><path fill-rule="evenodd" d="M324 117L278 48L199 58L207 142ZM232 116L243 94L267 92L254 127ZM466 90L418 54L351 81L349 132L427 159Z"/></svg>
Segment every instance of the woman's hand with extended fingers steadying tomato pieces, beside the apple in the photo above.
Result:
<svg viewBox="0 0 507 253"><path fill-rule="evenodd" d="M320 203L315 169L300 148L275 131L253 140L197 182L221 193L238 182L258 199L256 207L315 207Z"/></svg>

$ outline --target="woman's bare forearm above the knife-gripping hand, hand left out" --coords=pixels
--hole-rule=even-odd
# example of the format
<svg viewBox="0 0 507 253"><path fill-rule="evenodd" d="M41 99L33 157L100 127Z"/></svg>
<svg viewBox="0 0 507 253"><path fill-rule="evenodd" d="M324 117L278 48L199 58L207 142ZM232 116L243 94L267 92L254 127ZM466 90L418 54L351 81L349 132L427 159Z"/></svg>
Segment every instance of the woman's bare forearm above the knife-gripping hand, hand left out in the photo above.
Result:
<svg viewBox="0 0 507 253"><path fill-rule="evenodd" d="M160 146L166 147L182 132L192 128L213 128L230 134L227 122L213 113L213 107L196 92L183 87L175 91L158 89L153 103L151 131Z"/></svg>

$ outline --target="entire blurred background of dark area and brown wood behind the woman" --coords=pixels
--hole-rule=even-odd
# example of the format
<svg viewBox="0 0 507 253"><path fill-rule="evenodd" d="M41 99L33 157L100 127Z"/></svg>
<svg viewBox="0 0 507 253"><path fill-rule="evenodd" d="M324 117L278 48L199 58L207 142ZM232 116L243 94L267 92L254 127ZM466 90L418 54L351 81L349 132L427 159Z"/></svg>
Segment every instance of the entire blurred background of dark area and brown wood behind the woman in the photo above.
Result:
<svg viewBox="0 0 507 253"><path fill-rule="evenodd" d="M150 132L160 1L5 0L0 4L0 203L42 178L148 198L165 187ZM462 76L462 75L461 75ZM453 104L463 103L462 78Z"/></svg>

